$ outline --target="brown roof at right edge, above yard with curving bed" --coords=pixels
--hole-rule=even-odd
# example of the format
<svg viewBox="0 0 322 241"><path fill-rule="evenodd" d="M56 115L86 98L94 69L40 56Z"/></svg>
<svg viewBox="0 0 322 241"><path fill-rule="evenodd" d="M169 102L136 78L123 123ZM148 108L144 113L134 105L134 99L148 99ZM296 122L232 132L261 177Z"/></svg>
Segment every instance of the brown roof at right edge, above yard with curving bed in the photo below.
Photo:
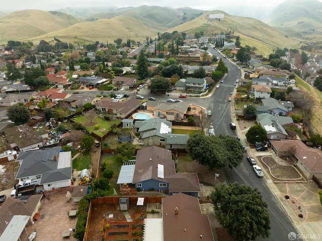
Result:
<svg viewBox="0 0 322 241"><path fill-rule="evenodd" d="M294 146L293 154L309 172L322 173L321 149L308 147L301 140L271 140L271 143L278 151L288 151Z"/></svg>

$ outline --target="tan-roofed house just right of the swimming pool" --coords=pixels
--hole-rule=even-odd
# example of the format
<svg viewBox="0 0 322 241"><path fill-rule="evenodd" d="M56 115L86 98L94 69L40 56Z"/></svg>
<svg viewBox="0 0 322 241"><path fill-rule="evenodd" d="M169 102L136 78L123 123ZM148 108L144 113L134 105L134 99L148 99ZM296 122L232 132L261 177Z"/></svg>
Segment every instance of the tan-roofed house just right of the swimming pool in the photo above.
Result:
<svg viewBox="0 0 322 241"><path fill-rule="evenodd" d="M150 108L147 103L147 110ZM154 104L154 103L151 103ZM178 103L161 103L156 105L152 111L153 115L159 118L166 118L167 120L183 120L185 119L185 114L187 113L189 107L188 102L178 102Z"/></svg>

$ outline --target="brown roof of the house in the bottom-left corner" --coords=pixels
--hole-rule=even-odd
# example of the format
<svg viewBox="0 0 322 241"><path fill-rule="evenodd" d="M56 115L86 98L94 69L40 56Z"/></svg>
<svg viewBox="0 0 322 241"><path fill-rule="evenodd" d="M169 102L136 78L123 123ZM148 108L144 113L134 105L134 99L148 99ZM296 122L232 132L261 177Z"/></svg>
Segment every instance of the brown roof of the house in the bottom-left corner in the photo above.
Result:
<svg viewBox="0 0 322 241"><path fill-rule="evenodd" d="M27 201L22 198L7 197L7 200L0 208L0 223L2 223L2 225L0 225L1 237L5 238L5 236L3 236L5 229L9 227L8 224L13 217L17 215L28 216L28 222L31 223L35 214L41 209L42 197L42 194L31 195L28 196ZM23 225L23 227L25 227L25 225ZM10 237L12 236L8 236L8 238L4 240L10 240Z"/></svg>

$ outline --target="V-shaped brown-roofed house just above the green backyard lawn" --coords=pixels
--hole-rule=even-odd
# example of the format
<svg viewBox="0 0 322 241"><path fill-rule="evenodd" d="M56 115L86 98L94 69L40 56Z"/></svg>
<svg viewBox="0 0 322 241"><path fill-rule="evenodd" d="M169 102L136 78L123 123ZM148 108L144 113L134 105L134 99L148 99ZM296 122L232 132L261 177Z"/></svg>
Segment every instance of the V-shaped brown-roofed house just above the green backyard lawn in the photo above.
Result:
<svg viewBox="0 0 322 241"><path fill-rule="evenodd" d="M95 104L95 108L102 112L107 112L116 115L119 118L126 118L141 105L141 101L135 98L128 98L120 102L113 102L109 97L102 99Z"/></svg>

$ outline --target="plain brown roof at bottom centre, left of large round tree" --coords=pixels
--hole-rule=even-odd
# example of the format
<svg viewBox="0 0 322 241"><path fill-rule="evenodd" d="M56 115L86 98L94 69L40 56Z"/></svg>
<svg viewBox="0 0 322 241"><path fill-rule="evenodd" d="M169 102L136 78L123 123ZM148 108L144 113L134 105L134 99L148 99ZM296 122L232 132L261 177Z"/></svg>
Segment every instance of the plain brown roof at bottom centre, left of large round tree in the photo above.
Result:
<svg viewBox="0 0 322 241"><path fill-rule="evenodd" d="M178 209L177 214L175 209ZM183 193L164 197L162 217L164 240L214 240L209 218L201 214L197 197Z"/></svg>

